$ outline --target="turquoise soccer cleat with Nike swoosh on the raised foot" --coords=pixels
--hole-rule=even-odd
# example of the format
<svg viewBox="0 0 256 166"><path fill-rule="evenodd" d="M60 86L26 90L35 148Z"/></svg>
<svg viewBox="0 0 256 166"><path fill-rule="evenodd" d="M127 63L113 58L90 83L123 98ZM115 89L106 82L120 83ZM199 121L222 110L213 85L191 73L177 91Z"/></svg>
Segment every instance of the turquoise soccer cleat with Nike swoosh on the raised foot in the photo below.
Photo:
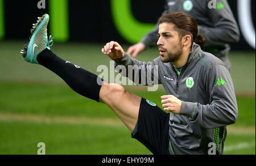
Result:
<svg viewBox="0 0 256 166"><path fill-rule="evenodd" d="M47 25L49 22L49 15L44 14L42 17L38 18L35 24L32 24L33 27L30 30L31 36L28 40L28 43L24 45L21 54L25 61L30 63L37 63L36 57L44 50L50 49L49 47L53 44L53 38L47 37Z"/></svg>

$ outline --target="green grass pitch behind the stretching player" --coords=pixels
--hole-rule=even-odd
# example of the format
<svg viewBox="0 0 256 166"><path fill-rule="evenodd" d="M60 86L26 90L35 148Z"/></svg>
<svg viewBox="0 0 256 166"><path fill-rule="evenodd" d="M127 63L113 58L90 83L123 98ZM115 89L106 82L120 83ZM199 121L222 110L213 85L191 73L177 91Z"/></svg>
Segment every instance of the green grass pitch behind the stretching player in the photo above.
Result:
<svg viewBox="0 0 256 166"><path fill-rule="evenodd" d="M19 54L23 43L0 42L0 154L36 154L39 142L46 144L46 154L151 154L106 105L73 92L44 67L25 62ZM109 66L101 46L54 44L52 50L99 74L98 65ZM157 55L152 48L138 58L151 61ZM224 154L255 155L255 52L232 52L230 61L239 115L236 124L228 126ZM161 86L156 92L125 88L158 105L165 94Z"/></svg>

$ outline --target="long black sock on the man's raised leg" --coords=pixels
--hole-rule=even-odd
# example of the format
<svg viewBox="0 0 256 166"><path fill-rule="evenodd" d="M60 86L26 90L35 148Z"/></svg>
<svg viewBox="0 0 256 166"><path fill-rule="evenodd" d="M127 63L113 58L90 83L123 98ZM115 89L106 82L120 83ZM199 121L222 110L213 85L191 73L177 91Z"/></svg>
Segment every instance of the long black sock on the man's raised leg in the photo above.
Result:
<svg viewBox="0 0 256 166"><path fill-rule="evenodd" d="M43 50L36 59L40 65L59 75L72 90L90 99L99 100L103 80L97 75L64 61L48 49Z"/></svg>

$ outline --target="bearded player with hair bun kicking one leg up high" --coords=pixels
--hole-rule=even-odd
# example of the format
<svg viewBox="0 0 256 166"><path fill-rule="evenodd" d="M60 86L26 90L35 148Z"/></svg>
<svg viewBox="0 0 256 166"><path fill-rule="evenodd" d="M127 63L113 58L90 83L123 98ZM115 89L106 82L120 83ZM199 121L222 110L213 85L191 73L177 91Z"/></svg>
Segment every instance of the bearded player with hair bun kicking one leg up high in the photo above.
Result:
<svg viewBox="0 0 256 166"><path fill-rule="evenodd" d="M118 42L108 42L102 48L118 65L138 65L139 74L158 78L168 94L159 96L168 113L121 85L105 82L57 57L50 50L52 37L47 38L48 20L45 14L33 25L21 52L26 61L47 67L80 95L107 104L131 131L131 137L153 154L222 154L226 125L236 122L238 114L232 78L220 59L200 49L204 36L198 35L191 16L177 12L159 19L160 56L153 62L131 58ZM158 65L158 75L152 74L154 68L149 65Z"/></svg>

